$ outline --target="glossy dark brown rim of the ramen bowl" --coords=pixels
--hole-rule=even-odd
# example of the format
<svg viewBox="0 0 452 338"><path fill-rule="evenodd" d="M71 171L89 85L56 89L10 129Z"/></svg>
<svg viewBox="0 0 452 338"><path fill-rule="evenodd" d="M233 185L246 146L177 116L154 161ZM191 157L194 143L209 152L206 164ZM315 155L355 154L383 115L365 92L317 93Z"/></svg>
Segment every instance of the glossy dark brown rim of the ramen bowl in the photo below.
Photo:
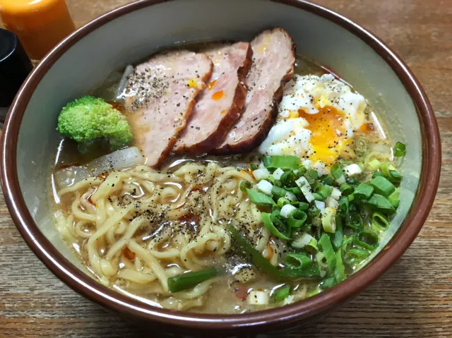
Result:
<svg viewBox="0 0 452 338"><path fill-rule="evenodd" d="M76 32L73 32L73 34L60 42L57 47L54 47L52 52L49 52L44 57L40 64L30 73L22 87L20 87L11 105L8 118L4 125L4 131L1 135L1 185L13 222L16 224L25 242L35 255L44 262L44 265L59 277L61 281L91 301L95 301L106 308L123 313L124 315L129 315L129 317L150 320L179 328L236 330L241 327L267 327L278 325L282 322L293 322L297 319L318 315L333 306L343 303L347 298L367 288L367 286L386 272L400 258L412 241L414 241L425 219L427 219L429 210L434 202L441 172L441 140L439 129L434 110L426 93L417 78L415 78L408 66L401 61L396 53L379 40L378 37L352 22L352 20L328 8L311 4L304 0L270 1L314 13L314 15L326 18L359 37L360 40L363 40L369 47L374 49L391 66L410 94L417 109L422 133L422 171L418 192L403 224L401 224L396 234L394 234L388 246L376 255L371 262L332 289L323 291L304 301L280 308L244 313L241 315L189 313L150 306L103 286L92 277L78 270L69 260L66 260L37 227L37 224L32 219L25 205L25 200L20 191L16 156L20 123L32 93L59 57L73 44L78 42L78 40L85 37L85 35L127 13L167 1L174 0L136 1L105 13L90 21L90 23L83 25L82 28L79 28Z"/></svg>

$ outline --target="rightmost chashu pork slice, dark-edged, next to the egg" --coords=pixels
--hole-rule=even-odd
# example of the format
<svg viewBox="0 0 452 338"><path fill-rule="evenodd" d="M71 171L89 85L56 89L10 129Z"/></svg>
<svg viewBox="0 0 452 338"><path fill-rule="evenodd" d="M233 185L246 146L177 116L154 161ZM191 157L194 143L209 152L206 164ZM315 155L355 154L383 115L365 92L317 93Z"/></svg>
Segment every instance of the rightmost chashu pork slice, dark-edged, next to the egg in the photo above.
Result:
<svg viewBox="0 0 452 338"><path fill-rule="evenodd" d="M283 28L265 30L251 41L253 64L246 78L242 116L213 153L240 154L257 147L275 121L283 87L294 74L295 44Z"/></svg>

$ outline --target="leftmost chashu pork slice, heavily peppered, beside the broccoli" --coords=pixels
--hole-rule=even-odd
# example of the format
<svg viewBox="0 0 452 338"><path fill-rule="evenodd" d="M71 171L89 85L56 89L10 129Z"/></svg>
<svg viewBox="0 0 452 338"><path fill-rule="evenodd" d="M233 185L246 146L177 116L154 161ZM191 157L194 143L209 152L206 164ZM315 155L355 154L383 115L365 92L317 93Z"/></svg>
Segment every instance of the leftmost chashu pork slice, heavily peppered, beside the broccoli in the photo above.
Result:
<svg viewBox="0 0 452 338"><path fill-rule="evenodd" d="M134 145L157 168L184 129L213 64L206 54L157 54L134 69L124 90Z"/></svg>

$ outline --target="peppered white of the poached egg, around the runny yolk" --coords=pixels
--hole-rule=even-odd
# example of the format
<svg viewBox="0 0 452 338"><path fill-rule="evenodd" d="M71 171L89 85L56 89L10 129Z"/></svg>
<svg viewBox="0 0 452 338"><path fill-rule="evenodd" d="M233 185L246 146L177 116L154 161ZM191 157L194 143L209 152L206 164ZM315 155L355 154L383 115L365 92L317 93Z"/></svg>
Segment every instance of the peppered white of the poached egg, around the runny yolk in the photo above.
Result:
<svg viewBox="0 0 452 338"><path fill-rule="evenodd" d="M266 140L259 147L263 155L295 155L307 157L315 149L310 144L309 122L298 117L302 109L306 114L319 114L324 107L334 107L341 112L347 138L366 122L367 107L362 95L331 74L323 76L297 76L285 85L283 99L278 107L278 119L270 129Z"/></svg>

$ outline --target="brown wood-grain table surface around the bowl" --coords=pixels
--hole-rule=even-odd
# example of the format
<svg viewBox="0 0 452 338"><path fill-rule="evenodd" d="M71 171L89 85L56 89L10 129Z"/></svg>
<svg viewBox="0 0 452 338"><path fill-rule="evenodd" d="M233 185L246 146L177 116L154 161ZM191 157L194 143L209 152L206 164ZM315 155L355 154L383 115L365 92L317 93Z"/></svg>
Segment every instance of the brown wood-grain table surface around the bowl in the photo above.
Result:
<svg viewBox="0 0 452 338"><path fill-rule="evenodd" d="M80 26L128 0L68 0ZM385 276L299 337L452 337L452 1L317 0L386 41L424 85L439 122L443 172L429 219ZM54 277L0 197L0 337L141 337ZM154 335L154 334L153 334Z"/></svg>

